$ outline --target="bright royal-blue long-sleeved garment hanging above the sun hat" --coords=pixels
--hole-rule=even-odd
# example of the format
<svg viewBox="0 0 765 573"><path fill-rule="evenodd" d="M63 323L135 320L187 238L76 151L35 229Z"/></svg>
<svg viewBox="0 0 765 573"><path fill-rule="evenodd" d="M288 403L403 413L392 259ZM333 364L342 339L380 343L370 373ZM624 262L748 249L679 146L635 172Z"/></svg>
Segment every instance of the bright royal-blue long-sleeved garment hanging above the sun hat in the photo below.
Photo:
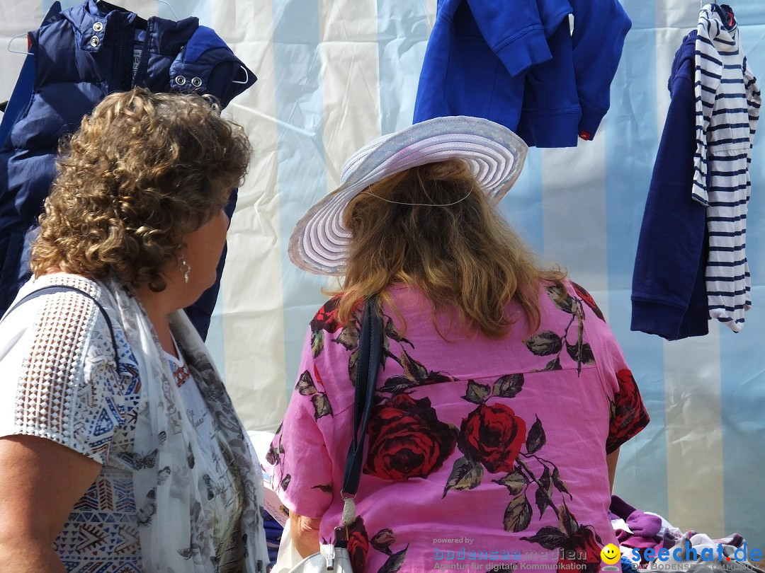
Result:
<svg viewBox="0 0 765 573"><path fill-rule="evenodd" d="M575 18L574 31L568 15ZM415 123L472 115L536 147L592 139L632 23L617 0L443 0L428 40Z"/></svg>

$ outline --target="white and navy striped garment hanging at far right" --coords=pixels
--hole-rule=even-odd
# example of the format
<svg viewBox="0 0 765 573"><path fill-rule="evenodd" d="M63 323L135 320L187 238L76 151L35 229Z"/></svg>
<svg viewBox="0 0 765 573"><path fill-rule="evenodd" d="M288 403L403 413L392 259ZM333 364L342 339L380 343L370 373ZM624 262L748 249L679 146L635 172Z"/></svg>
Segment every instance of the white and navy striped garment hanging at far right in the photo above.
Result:
<svg viewBox="0 0 765 573"><path fill-rule="evenodd" d="M734 332L751 306L745 252L749 163L760 89L741 50L730 6L699 13L695 57L696 151L693 198L706 207L709 314Z"/></svg>

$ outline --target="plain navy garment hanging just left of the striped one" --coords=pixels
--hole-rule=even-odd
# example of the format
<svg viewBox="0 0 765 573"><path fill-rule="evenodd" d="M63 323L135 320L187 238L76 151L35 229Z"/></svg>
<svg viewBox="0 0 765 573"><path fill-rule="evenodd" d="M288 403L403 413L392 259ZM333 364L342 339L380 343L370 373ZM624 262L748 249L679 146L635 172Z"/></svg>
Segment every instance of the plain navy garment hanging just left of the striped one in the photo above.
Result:
<svg viewBox="0 0 765 573"><path fill-rule="evenodd" d="M696 31L685 36L669 76L669 102L632 277L632 330L667 340L709 332L706 208L692 197L696 151Z"/></svg>

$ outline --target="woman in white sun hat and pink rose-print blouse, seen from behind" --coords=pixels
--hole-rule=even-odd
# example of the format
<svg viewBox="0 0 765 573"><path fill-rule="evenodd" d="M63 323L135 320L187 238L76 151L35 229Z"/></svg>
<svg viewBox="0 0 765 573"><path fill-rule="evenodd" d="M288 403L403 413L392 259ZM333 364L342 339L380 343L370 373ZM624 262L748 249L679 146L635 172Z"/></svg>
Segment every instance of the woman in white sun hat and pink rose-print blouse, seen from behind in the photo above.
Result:
<svg viewBox="0 0 765 573"><path fill-rule="evenodd" d="M512 131L436 118L367 144L298 222L291 261L344 277L316 313L269 452L305 555L335 539L363 300L384 351L353 571L597 571L619 447L648 416L586 290L495 209L526 157ZM474 564L474 565L471 565Z"/></svg>

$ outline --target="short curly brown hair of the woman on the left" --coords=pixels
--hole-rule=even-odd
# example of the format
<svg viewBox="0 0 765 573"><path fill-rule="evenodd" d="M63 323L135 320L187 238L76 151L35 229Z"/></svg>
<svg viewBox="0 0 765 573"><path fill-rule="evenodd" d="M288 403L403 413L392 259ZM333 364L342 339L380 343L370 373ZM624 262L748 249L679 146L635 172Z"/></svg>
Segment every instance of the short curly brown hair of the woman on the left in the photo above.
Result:
<svg viewBox="0 0 765 573"><path fill-rule="evenodd" d="M35 276L116 275L164 290L184 235L220 211L252 153L213 99L135 88L107 95L63 140L34 241Z"/></svg>

